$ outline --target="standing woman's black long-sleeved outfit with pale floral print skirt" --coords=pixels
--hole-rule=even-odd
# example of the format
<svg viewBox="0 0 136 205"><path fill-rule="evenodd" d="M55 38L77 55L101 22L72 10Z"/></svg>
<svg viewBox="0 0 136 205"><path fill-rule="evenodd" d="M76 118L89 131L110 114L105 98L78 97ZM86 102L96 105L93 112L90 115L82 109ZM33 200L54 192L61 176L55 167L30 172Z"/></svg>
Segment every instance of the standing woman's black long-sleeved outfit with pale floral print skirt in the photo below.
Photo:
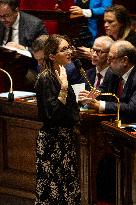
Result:
<svg viewBox="0 0 136 205"><path fill-rule="evenodd" d="M36 84L43 128L37 137L35 205L80 205L80 146L75 125L79 108L72 88L64 105L58 100L60 84L46 74Z"/></svg>

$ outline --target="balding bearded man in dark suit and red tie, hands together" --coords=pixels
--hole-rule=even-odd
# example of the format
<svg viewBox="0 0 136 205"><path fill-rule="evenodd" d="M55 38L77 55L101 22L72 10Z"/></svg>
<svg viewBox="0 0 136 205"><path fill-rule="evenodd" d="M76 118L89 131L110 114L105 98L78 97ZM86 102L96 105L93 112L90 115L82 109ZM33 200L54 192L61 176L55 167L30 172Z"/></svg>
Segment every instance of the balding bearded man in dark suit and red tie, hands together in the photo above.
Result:
<svg viewBox="0 0 136 205"><path fill-rule="evenodd" d="M120 116L125 123L136 121L136 49L128 41L118 40L110 48L108 62L113 74L105 78L101 92L116 94L120 99ZM120 81L119 81L120 78ZM122 82L122 89L121 83ZM120 89L119 89L120 88ZM122 92L121 92L122 90ZM97 96L97 95L96 95ZM108 98L97 100L94 92L83 91L79 94L82 104L87 104L99 112L117 113L117 100ZM101 96L99 96L101 97ZM115 100L114 100L115 99Z"/></svg>

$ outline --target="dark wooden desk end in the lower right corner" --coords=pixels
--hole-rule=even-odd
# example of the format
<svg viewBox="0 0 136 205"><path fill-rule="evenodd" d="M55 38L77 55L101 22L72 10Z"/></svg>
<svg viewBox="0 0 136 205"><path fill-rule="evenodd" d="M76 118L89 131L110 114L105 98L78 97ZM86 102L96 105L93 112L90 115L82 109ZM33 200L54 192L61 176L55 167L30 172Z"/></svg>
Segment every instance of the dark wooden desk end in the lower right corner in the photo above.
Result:
<svg viewBox="0 0 136 205"><path fill-rule="evenodd" d="M116 156L116 205L136 204L136 135L102 122L107 142Z"/></svg>

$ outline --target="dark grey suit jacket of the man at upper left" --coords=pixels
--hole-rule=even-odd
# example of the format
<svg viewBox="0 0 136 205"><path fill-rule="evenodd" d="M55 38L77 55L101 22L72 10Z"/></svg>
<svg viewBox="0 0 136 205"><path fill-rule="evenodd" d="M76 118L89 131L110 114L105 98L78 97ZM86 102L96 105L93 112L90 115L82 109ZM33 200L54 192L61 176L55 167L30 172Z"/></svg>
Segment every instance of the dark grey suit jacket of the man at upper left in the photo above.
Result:
<svg viewBox="0 0 136 205"><path fill-rule="evenodd" d="M4 38L5 27L0 22L0 45ZM33 41L40 35L47 34L42 20L30 14L20 12L19 44L31 47Z"/></svg>

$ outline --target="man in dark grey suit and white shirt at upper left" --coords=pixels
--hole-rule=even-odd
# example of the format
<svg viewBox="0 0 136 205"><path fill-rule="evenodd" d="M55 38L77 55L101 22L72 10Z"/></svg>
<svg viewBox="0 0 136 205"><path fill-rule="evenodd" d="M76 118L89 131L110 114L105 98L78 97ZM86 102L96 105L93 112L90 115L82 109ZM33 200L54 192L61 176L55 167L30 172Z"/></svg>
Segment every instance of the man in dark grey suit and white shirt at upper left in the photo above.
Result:
<svg viewBox="0 0 136 205"><path fill-rule="evenodd" d="M25 50L40 35L47 34L43 22L19 11L19 0L0 0L0 45Z"/></svg>

